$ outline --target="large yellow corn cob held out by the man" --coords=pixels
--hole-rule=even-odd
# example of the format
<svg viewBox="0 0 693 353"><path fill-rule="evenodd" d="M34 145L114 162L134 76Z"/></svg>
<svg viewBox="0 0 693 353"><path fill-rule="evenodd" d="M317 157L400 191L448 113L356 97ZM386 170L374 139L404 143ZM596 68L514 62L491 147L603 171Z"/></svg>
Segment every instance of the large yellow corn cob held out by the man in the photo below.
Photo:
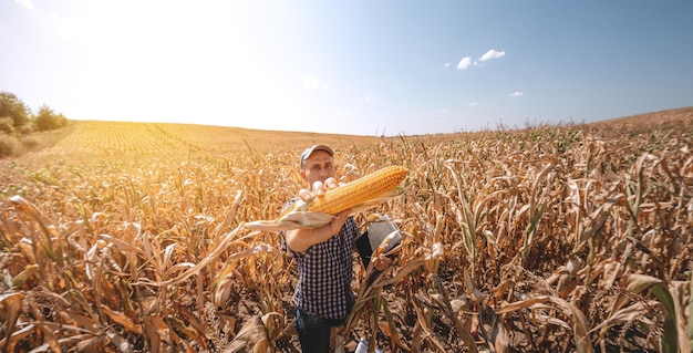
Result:
<svg viewBox="0 0 693 353"><path fill-rule="evenodd" d="M400 166L382 168L313 198L306 210L337 215L394 189L404 180L406 172Z"/></svg>

